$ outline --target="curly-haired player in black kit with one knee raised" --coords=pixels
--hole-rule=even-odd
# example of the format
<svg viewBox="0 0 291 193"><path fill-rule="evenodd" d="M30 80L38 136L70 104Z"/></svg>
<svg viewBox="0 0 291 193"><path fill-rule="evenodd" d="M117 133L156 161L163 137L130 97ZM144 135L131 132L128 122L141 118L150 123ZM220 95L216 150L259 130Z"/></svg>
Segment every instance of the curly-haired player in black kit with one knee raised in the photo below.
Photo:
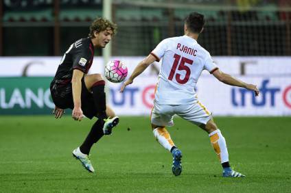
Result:
<svg viewBox="0 0 291 193"><path fill-rule="evenodd" d="M84 142L73 150L73 156L80 160L84 168L94 172L89 152L102 136L109 135L118 122L115 112L106 105L105 81L100 74L87 75L94 57L94 48L106 47L115 35L117 25L105 18L96 18L91 24L89 37L82 38L69 47L63 55L51 81L51 97L56 105L54 114L61 118L64 110L73 110L72 118L82 120L97 117Z"/></svg>

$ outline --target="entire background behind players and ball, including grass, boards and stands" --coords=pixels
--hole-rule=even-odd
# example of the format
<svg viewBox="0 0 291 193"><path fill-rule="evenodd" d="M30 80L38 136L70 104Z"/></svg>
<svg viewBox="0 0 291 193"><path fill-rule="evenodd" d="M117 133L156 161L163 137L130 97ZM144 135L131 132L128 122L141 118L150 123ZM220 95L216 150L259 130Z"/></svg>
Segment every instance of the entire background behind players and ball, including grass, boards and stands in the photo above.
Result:
<svg viewBox="0 0 291 193"><path fill-rule="evenodd" d="M49 83L62 54L88 35L96 16L106 16L118 33L110 47L95 49L89 73L103 74L113 59L130 73L161 40L183 35L193 11L207 18L198 42L218 66L261 91L255 98L209 73L196 88L224 133L232 166L247 178L219 178L207 135L179 118L169 131L184 170L172 175L172 157L154 142L148 120L158 63L124 94L108 83L121 122L91 152L96 174L86 173L70 155L94 120L51 116ZM290 192L290 116L290 0L0 1L0 192Z"/></svg>

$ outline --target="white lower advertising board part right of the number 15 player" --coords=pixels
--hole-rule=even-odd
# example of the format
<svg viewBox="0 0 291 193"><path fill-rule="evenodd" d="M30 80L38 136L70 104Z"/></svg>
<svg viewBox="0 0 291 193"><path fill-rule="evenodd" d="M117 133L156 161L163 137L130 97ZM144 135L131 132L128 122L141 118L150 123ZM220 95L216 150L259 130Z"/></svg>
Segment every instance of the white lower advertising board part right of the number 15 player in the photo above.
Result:
<svg viewBox="0 0 291 193"><path fill-rule="evenodd" d="M214 77L198 82L198 97L218 116L290 116L291 77L238 77L259 88L259 97L250 90L228 86Z"/></svg>

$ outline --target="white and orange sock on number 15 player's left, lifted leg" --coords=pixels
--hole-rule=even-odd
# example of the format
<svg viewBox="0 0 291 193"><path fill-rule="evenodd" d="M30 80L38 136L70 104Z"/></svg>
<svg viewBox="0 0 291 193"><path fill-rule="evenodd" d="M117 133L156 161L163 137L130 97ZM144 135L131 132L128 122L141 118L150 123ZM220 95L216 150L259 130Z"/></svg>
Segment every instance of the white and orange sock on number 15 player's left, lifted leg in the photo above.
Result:
<svg viewBox="0 0 291 193"><path fill-rule="evenodd" d="M156 140L168 151L171 151L172 147L175 146L170 133L165 129L165 127L157 127L153 130L153 133Z"/></svg>

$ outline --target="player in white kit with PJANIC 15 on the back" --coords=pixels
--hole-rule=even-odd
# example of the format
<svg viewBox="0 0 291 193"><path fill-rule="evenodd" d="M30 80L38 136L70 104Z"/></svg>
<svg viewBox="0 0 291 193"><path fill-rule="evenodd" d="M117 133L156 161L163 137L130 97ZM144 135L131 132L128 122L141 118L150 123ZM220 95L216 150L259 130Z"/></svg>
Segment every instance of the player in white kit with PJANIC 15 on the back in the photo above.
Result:
<svg viewBox="0 0 291 193"><path fill-rule="evenodd" d="M207 70L223 83L253 90L255 96L259 95L259 90L255 85L244 83L218 69L209 52L197 42L204 25L205 19L202 14L196 12L189 14L184 25L185 35L161 41L152 53L137 65L120 91L123 92L126 86L150 64L163 58L156 85L151 123L156 140L172 153L173 174L181 175L182 153L175 146L165 126L174 125L173 116L176 114L207 131L213 149L222 164L223 177L244 177L240 172L231 169L226 141L214 123L211 113L198 101L194 87L202 70Z"/></svg>

